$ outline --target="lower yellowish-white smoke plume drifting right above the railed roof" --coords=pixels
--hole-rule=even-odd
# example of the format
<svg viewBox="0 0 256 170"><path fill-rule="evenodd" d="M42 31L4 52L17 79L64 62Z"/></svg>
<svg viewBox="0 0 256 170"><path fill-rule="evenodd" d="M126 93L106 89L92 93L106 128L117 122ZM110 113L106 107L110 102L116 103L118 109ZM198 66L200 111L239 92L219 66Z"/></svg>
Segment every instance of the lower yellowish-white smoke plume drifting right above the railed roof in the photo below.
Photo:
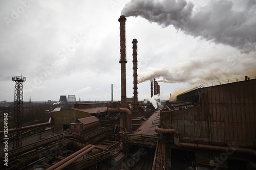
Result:
<svg viewBox="0 0 256 170"><path fill-rule="evenodd" d="M255 74L255 62L253 53L229 57L194 57L177 63L172 69L166 64L161 64L158 68L148 67L146 71L138 74L138 82L152 81L153 78L159 78L156 79L159 82L187 82L192 85L215 82Z"/></svg>

